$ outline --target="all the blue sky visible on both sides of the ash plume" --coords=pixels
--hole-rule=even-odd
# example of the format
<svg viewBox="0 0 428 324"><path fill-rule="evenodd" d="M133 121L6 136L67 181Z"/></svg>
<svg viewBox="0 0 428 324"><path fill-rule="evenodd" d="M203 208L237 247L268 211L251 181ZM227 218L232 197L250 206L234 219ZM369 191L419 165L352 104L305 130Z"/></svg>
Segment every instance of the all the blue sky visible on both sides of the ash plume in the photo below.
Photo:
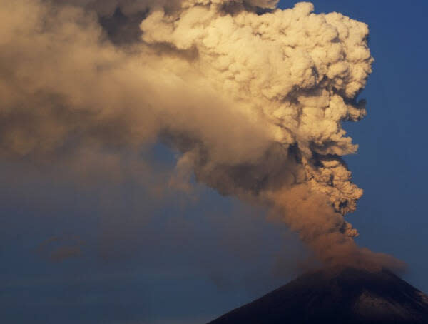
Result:
<svg viewBox="0 0 428 324"><path fill-rule="evenodd" d="M404 260L404 278L428 292L428 3L313 2L317 13L365 21L376 60L360 95L368 115L345 126L360 144L346 161L365 190L347 217L360 245ZM163 146L153 156L167 168L175 161ZM11 179L19 168L0 169L5 323L205 323L286 283L304 261L284 226L208 188L156 203L132 179L100 190L26 168Z"/></svg>

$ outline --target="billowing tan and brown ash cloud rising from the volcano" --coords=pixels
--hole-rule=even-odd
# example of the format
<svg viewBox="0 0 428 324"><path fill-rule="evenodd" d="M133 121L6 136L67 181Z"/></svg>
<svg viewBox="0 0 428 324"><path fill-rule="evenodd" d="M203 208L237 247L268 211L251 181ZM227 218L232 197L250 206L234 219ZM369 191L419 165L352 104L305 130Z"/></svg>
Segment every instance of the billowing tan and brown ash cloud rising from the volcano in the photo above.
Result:
<svg viewBox="0 0 428 324"><path fill-rule="evenodd" d="M365 116L366 24L306 2L0 2L4 158L161 139L180 178L270 206L323 262L399 265L357 248L343 217L362 196L341 122Z"/></svg>

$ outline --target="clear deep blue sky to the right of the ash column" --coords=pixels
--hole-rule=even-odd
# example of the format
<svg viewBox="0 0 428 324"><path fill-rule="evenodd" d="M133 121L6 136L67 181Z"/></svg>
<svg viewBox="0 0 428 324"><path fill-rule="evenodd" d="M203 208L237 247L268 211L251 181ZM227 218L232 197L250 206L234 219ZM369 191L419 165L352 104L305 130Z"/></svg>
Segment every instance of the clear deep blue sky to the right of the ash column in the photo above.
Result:
<svg viewBox="0 0 428 324"><path fill-rule="evenodd" d="M374 69L360 95L367 99L367 116L345 126L360 145L357 155L346 161L355 183L365 190L357 211L348 216L360 231L357 242L407 262L404 278L427 292L428 4L332 0L314 4L316 12L338 11L370 28Z"/></svg>

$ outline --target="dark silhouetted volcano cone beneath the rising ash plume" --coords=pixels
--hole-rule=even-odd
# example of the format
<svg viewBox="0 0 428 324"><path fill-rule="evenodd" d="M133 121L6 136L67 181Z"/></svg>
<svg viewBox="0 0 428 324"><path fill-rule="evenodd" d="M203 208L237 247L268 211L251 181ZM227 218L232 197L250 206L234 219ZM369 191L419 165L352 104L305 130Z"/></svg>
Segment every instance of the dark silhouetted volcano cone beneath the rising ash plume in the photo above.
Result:
<svg viewBox="0 0 428 324"><path fill-rule="evenodd" d="M428 296L393 273L307 273L209 324L428 324Z"/></svg>

